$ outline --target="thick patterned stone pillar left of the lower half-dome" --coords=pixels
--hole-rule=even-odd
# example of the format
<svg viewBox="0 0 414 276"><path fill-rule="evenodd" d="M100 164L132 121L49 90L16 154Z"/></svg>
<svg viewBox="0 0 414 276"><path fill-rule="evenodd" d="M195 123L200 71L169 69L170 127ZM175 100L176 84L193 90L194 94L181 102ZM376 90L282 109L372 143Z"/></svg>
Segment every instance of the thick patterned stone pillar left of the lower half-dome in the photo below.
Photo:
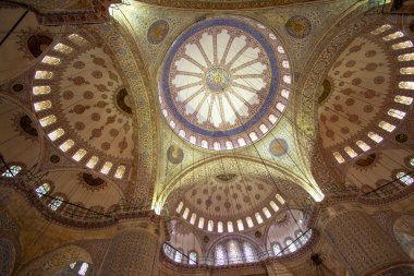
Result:
<svg viewBox="0 0 414 276"><path fill-rule="evenodd" d="M120 224L98 275L157 276L159 251L163 241L160 231L160 221L151 219Z"/></svg>

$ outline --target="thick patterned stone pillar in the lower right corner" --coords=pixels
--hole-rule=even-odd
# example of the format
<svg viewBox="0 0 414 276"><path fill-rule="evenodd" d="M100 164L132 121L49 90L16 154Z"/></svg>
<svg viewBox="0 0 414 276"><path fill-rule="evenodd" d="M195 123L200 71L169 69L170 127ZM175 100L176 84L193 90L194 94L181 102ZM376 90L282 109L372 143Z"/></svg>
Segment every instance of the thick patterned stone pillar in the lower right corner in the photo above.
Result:
<svg viewBox="0 0 414 276"><path fill-rule="evenodd" d="M363 212L334 214L324 231L352 276L410 262L395 240Z"/></svg>

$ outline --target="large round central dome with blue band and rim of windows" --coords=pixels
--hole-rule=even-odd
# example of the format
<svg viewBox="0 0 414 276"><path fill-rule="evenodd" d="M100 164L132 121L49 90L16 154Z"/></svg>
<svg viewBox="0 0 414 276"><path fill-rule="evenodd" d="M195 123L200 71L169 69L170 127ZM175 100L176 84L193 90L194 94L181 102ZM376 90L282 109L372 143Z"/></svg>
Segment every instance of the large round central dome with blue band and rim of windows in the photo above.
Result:
<svg viewBox="0 0 414 276"><path fill-rule="evenodd" d="M232 149L265 135L289 97L290 65L270 29L251 19L207 19L171 46L159 100L174 131L194 145Z"/></svg>

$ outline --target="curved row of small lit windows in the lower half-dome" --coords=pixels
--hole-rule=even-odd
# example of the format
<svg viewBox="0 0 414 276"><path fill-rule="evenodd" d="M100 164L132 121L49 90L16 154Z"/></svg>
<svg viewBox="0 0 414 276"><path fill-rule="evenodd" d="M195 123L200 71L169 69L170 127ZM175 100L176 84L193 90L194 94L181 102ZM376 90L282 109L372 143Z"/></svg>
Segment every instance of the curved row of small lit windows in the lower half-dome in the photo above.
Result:
<svg viewBox="0 0 414 276"><path fill-rule="evenodd" d="M253 213L251 216L246 216L244 219L239 218L234 221L221 221L207 219L203 216L192 212L190 207L184 205L184 202L180 202L175 208L175 212L184 219L187 220L191 225L198 227L209 232L216 231L219 233L222 232L234 232L234 231L244 231L246 228L253 228L255 226L261 225L265 223L265 219L271 219L279 211L280 206L285 204L284 199L280 194L275 194L275 200L271 200L268 206L263 207L259 212ZM207 221L207 224L206 224Z"/></svg>

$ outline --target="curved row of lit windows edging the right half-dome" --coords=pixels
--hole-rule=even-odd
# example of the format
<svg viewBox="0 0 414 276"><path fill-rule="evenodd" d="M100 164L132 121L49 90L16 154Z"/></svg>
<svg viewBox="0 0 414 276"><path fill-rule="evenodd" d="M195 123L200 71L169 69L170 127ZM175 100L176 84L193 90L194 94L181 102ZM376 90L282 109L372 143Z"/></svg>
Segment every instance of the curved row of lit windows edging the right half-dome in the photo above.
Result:
<svg viewBox="0 0 414 276"><path fill-rule="evenodd" d="M392 28L393 27L390 24L385 24L385 25L381 25L380 27L374 29L373 32L370 32L370 34L375 35L375 36L382 35L382 39L385 41L392 44L391 48L393 50L403 50L403 49L407 49L407 48L413 47L413 43L411 40L404 40L404 41L394 44L393 40L404 39L405 35L401 31L394 31L393 32ZM414 52L407 52L407 53L402 53L402 55L398 56L398 61L400 61L400 62L406 62L406 61L413 61L413 60L414 60ZM414 68L406 67L406 65L402 64L400 68L400 73L401 73L401 75L411 76L412 74L414 74ZM414 81L409 81L409 80L401 81L401 82L399 82L398 87L403 89L403 92L401 94L404 94L404 91L414 89ZM413 97L411 97L409 95L395 95L393 97L393 101L397 104L401 104L402 109L406 109L407 108L406 106L411 106L413 104ZM388 109L387 115L390 118L402 120L406 116L406 112L403 110L400 110L400 109L390 108L390 109ZM387 120L381 120L378 122L378 128L380 128L381 130L383 130L386 132L391 133L397 129L397 125L392 124L391 122L388 122ZM383 141L383 137L374 131L368 132L367 136L377 144L379 144ZM356 141L356 145L363 152L367 152L370 149L370 146L362 140ZM356 156L358 156L358 154L351 146L345 146L344 152L346 153L346 155L350 158L355 158ZM345 163L345 158L343 157L343 155L340 152L338 152L338 151L333 152L332 155L333 155L333 158L337 160L338 164Z"/></svg>

